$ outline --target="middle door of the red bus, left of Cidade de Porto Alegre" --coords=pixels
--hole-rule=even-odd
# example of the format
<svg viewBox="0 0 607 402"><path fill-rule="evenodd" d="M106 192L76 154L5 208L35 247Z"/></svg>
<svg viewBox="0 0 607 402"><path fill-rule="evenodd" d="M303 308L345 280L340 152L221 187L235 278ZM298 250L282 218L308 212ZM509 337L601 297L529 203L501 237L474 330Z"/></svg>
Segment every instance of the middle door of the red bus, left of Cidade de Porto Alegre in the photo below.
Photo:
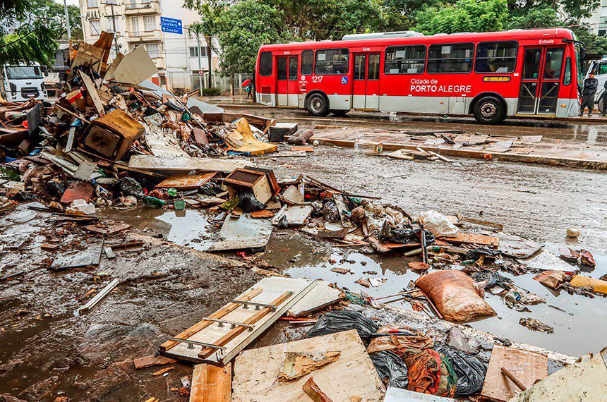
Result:
<svg viewBox="0 0 607 402"><path fill-rule="evenodd" d="M379 109L379 69L379 53L354 54L353 109Z"/></svg>

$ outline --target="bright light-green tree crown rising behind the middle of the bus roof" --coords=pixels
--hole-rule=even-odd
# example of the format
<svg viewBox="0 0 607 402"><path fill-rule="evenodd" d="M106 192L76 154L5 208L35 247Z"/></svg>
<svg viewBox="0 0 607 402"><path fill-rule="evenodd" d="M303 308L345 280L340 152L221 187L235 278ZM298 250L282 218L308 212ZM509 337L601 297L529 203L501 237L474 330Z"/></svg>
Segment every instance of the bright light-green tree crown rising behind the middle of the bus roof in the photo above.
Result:
<svg viewBox="0 0 607 402"><path fill-rule="evenodd" d="M458 0L423 8L416 14L415 30L425 35L503 30L508 20L506 0Z"/></svg>

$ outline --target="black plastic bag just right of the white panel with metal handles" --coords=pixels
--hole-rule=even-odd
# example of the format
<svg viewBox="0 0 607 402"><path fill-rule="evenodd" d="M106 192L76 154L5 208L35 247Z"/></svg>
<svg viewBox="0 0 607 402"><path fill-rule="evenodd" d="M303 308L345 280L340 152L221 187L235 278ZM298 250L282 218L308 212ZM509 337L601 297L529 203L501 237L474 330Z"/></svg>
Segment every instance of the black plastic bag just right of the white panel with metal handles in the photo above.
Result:
<svg viewBox="0 0 607 402"><path fill-rule="evenodd" d="M371 334L378 331L378 326L371 320L357 311L334 311L327 312L318 317L314 327L308 331L306 338L335 334L335 332L348 331L356 329L363 340L365 346L371 341Z"/></svg>

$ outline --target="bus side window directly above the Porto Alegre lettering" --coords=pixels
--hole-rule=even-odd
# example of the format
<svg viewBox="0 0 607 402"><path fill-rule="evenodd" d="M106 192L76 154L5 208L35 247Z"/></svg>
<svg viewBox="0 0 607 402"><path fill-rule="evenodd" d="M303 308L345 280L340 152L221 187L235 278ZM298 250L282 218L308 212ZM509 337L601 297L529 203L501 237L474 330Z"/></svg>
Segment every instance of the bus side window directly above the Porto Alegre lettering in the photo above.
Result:
<svg viewBox="0 0 607 402"><path fill-rule="evenodd" d="M433 44L428 49L428 73L469 73L474 44Z"/></svg>

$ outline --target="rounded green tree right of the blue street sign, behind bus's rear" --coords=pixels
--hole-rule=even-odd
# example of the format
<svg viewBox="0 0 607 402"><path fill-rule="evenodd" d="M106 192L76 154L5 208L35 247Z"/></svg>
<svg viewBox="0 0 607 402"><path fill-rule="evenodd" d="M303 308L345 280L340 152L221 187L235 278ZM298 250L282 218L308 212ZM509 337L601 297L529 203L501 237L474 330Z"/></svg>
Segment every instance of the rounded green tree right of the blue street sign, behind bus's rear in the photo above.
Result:
<svg viewBox="0 0 607 402"><path fill-rule="evenodd" d="M217 21L217 29L220 69L224 76L252 73L261 45L293 39L291 33L284 30L281 13L256 0L226 8Z"/></svg>

